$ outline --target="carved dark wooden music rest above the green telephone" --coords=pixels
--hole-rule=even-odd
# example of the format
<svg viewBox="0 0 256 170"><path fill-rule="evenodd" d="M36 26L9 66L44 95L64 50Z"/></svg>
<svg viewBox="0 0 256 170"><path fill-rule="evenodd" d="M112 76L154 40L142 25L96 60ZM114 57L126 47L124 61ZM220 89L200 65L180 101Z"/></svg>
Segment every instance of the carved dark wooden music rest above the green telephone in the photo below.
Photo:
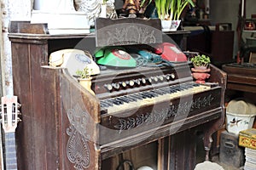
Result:
<svg viewBox="0 0 256 170"><path fill-rule="evenodd" d="M96 19L96 47L163 42L160 20Z"/></svg>

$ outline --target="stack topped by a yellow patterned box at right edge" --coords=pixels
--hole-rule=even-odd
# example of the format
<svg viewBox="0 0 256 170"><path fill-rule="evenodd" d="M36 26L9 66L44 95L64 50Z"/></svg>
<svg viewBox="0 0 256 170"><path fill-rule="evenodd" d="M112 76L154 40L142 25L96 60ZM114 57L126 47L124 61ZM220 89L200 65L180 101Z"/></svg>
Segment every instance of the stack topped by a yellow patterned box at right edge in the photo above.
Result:
<svg viewBox="0 0 256 170"><path fill-rule="evenodd" d="M244 170L255 170L256 167L256 128L239 133L239 145L245 147L246 162Z"/></svg>

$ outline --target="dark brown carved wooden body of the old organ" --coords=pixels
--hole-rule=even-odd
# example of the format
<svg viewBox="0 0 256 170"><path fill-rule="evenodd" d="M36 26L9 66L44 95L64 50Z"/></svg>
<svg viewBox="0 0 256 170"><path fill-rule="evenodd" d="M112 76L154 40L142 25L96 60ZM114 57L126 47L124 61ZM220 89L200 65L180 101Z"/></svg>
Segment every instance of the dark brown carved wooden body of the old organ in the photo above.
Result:
<svg viewBox="0 0 256 170"><path fill-rule="evenodd" d="M86 48L95 42L94 36L87 38ZM67 69L47 66L51 52L73 48L84 36L13 32L9 39L15 95L22 105L22 122L16 132L19 169L115 169L114 163L108 165L113 156L152 143L157 145L158 169L193 169L197 131L204 133L208 156L211 135L224 122L226 75L213 65L209 80L212 87L205 92L183 94L112 115L102 111L102 99L82 88ZM177 65L174 70L138 68L102 72L94 78L93 88L101 88L108 79L134 80L142 75L170 73L175 78L165 85L168 87L192 80L189 65ZM165 82L159 84L155 89ZM139 91L143 90L149 90L148 86Z"/></svg>

